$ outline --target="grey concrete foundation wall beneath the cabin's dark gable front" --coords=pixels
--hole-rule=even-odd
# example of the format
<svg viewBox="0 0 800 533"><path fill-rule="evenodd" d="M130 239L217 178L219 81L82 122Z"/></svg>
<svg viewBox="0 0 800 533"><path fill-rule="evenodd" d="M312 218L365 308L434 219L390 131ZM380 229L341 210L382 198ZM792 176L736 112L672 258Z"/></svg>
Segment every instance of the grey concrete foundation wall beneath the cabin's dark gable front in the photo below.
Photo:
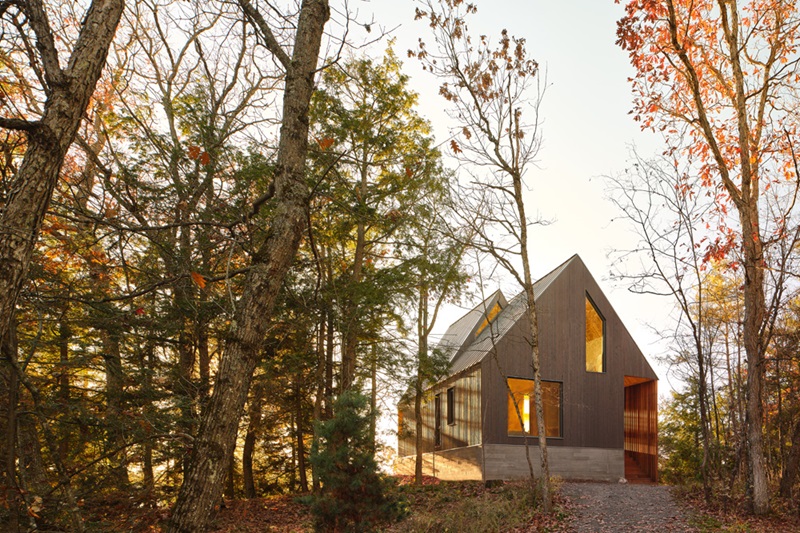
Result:
<svg viewBox="0 0 800 533"><path fill-rule="evenodd" d="M529 476L525 447L509 444L484 445L486 479L522 479ZM529 447L534 472L541 471L539 446ZM625 476L625 452L609 448L548 446L550 475L564 479L617 481Z"/></svg>

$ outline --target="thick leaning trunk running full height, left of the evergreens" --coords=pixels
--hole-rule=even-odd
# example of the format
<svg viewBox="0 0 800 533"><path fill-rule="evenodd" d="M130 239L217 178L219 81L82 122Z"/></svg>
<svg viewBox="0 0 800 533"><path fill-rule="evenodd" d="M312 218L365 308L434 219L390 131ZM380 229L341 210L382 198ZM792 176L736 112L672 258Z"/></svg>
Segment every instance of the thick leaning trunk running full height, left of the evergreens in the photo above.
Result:
<svg viewBox="0 0 800 533"><path fill-rule="evenodd" d="M246 11L248 7L252 10L247 0L241 0L241 4ZM259 360L283 278L303 235L309 194L305 183L308 107L314 90L322 32L329 16L327 0L304 0L293 57L288 60L283 57L285 52L282 50L272 50L287 69L274 179L274 214L269 234L253 257L244 282L244 293L236 305L214 392L195 439L192 464L169 524L171 533L203 531L219 501L250 379ZM271 46L270 39L265 40Z"/></svg>

